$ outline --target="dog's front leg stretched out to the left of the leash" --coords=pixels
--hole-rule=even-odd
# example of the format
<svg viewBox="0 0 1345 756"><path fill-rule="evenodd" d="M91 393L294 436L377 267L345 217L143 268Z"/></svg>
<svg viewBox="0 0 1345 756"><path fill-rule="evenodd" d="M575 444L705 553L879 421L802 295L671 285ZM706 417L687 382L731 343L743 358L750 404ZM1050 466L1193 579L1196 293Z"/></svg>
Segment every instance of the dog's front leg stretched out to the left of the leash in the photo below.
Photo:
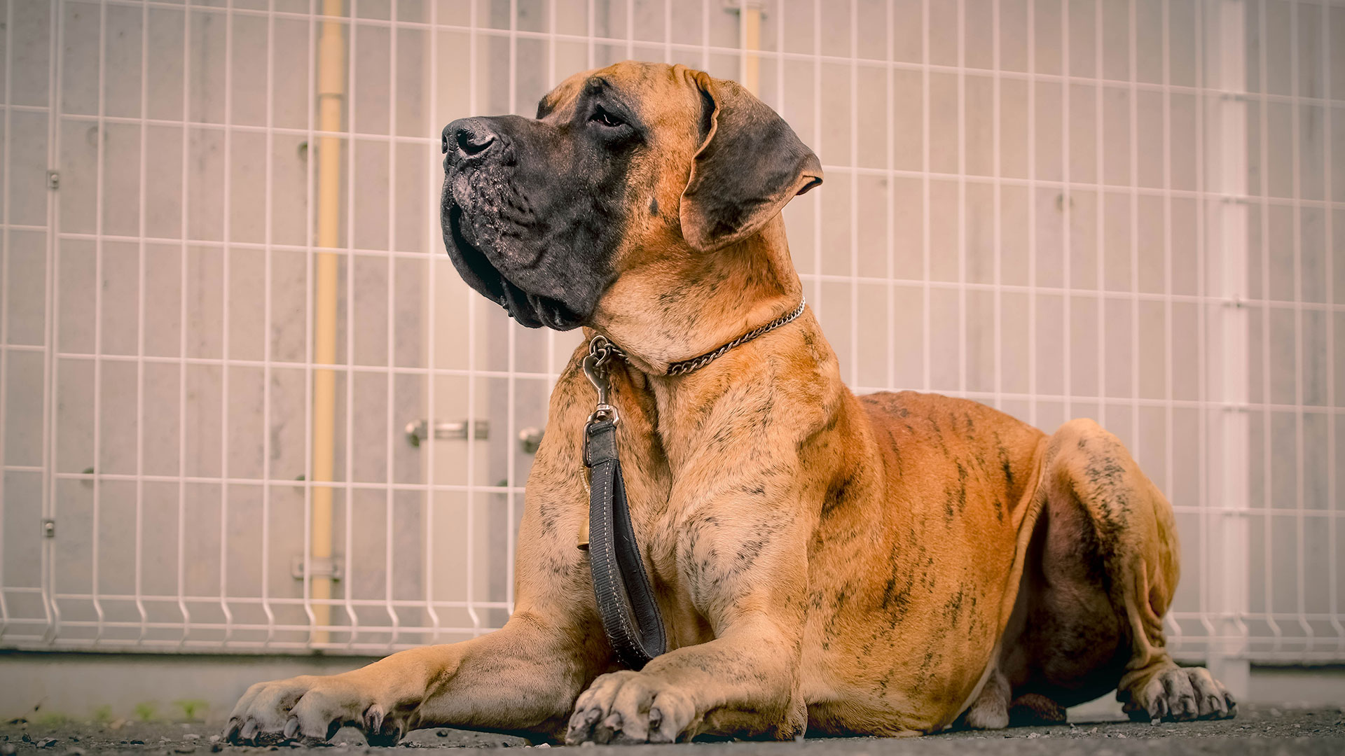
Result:
<svg viewBox="0 0 1345 756"><path fill-rule="evenodd" d="M230 714L230 740L331 737L343 724L381 741L436 725L564 734L574 698L611 665L588 565L574 547L588 517L578 440L592 404L574 398L592 391L578 370L581 355L557 385L549 421L554 432L529 476L515 564L518 605L504 627L344 674L257 683Z"/></svg>

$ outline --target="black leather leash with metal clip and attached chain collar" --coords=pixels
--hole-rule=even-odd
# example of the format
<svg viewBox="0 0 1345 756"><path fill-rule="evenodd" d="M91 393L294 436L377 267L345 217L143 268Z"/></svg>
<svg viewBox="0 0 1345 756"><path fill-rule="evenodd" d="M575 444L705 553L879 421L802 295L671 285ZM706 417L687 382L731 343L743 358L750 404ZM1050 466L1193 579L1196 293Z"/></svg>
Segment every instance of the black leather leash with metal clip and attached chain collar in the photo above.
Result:
<svg viewBox="0 0 1345 756"><path fill-rule="evenodd" d="M790 323L803 315L803 300L792 311L757 327L701 356L675 362L666 375L683 375L705 367L733 347ZM643 669L654 656L667 651L663 615L659 612L654 587L644 572L644 560L631 526L631 504L625 500L625 480L616 451L616 425L620 416L608 402L612 389L611 363L625 359L625 352L607 336L589 340L584 356L584 375L597 389L597 409L584 426L584 465L589 468L589 527L580 534L580 547L588 547L589 570L593 573L593 596L617 659L632 670Z"/></svg>

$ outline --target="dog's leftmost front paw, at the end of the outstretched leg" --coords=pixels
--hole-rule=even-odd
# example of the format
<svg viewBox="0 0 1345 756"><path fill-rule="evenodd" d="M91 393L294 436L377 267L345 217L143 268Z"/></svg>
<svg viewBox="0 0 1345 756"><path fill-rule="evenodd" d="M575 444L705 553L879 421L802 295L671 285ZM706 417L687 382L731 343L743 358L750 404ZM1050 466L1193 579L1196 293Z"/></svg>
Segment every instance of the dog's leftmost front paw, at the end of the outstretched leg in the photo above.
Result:
<svg viewBox="0 0 1345 756"><path fill-rule="evenodd" d="M409 728L405 717L389 716L390 709L340 675L258 682L234 705L225 740L250 745L266 736L330 740L343 725L352 725L370 745L395 745Z"/></svg>

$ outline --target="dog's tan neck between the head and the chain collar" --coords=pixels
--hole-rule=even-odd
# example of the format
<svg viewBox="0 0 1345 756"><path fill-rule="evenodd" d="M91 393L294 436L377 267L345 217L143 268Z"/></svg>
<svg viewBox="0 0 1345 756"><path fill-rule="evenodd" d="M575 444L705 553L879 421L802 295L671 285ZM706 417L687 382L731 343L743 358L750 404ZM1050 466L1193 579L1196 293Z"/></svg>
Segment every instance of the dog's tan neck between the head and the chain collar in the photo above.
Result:
<svg viewBox="0 0 1345 756"><path fill-rule="evenodd" d="M589 335L608 336L633 367L662 375L792 311L802 296L777 215L724 249L636 262L599 303Z"/></svg>

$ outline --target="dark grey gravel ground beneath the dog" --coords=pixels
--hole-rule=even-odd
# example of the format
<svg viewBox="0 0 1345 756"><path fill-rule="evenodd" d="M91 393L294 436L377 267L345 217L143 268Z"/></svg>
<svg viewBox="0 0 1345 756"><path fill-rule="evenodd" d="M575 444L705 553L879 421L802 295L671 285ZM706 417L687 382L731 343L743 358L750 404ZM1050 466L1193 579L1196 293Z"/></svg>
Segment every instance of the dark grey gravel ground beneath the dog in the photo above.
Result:
<svg viewBox="0 0 1345 756"><path fill-rule="evenodd" d="M370 748L352 729L340 730L336 745L280 744L262 748L219 743L218 729L203 724L13 721L0 725L0 756L233 756L291 752L293 756L395 756L406 748L527 747L502 734L449 729L413 732L398 749ZM541 745L538 748L550 748ZM619 751L620 756L697 749L702 756L842 756L1009 753L1127 756L1138 753L1190 755L1264 753L1267 756L1345 753L1345 712L1241 706L1236 720L1219 722L1134 724L1080 721L1060 726L1013 728L998 732L951 732L917 739L815 739L802 743L705 743L695 745L596 747L592 756ZM382 752L382 753L381 753Z"/></svg>

